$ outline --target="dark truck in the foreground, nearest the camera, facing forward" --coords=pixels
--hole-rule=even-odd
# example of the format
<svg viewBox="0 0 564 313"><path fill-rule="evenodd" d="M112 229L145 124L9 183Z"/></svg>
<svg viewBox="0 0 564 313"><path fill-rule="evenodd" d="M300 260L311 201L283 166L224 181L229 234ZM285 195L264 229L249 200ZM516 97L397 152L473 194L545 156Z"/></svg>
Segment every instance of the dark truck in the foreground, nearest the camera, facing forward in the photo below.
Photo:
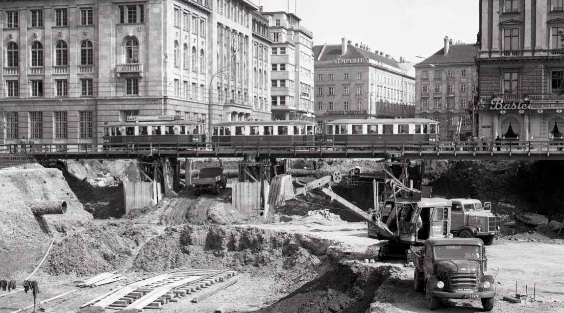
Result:
<svg viewBox="0 0 564 313"><path fill-rule="evenodd" d="M439 298L481 299L491 311L496 290L494 278L485 275L486 248L479 238L430 238L411 247L413 289L425 291L427 306L437 309Z"/></svg>

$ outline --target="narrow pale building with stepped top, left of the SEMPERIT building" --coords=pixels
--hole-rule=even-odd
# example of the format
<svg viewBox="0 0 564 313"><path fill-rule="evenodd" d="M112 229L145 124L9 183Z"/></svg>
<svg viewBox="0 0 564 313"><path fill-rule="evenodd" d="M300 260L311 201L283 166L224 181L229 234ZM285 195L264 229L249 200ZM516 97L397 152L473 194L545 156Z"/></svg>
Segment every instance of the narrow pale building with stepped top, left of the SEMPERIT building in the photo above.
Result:
<svg viewBox="0 0 564 313"><path fill-rule="evenodd" d="M310 120L314 111L313 34L299 17L287 12L265 12L272 38L272 119Z"/></svg>

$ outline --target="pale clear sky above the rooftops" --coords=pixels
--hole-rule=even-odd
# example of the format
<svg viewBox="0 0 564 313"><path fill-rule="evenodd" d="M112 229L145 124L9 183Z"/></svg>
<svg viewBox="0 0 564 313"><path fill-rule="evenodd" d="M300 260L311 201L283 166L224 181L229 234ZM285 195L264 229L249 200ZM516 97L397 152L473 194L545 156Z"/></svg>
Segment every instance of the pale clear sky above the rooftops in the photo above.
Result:
<svg viewBox="0 0 564 313"><path fill-rule="evenodd" d="M264 11L295 13L314 33L314 44L367 44L399 60L421 62L443 47L443 38L475 43L479 0L252 0Z"/></svg>

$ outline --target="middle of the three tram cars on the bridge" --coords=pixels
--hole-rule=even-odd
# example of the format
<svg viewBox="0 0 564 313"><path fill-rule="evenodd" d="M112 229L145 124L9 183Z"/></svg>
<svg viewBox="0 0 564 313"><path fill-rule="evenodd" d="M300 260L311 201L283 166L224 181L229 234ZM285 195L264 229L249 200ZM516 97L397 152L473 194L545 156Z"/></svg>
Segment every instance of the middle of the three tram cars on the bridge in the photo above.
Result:
<svg viewBox="0 0 564 313"><path fill-rule="evenodd" d="M213 142L314 142L317 124L305 120L221 122L212 126Z"/></svg>

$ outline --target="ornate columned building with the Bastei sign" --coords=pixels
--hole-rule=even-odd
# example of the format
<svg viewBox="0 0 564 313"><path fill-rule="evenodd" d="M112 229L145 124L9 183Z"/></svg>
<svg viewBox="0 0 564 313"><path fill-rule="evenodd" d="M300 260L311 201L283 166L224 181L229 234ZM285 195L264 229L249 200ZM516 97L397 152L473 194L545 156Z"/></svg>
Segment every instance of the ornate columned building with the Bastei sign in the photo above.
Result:
<svg viewBox="0 0 564 313"><path fill-rule="evenodd" d="M479 136L562 136L563 17L562 0L480 1Z"/></svg>

